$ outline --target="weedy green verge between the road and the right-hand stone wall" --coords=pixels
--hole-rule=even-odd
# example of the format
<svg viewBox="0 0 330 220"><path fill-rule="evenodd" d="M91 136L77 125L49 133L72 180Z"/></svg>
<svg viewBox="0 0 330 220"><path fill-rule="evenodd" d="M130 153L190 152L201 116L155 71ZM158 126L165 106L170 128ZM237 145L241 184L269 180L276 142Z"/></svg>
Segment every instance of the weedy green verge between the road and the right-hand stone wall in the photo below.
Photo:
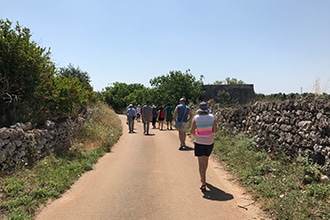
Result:
<svg viewBox="0 0 330 220"><path fill-rule="evenodd" d="M224 132L216 135L214 153L273 219L330 219L330 184L319 182L320 167L307 158L270 154Z"/></svg>

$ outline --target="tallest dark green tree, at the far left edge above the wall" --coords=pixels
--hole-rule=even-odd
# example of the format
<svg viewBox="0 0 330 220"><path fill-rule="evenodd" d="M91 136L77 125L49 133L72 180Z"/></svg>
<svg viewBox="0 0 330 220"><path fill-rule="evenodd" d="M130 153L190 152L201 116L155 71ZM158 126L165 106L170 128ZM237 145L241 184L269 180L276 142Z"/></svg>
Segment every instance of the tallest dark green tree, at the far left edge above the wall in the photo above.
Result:
<svg viewBox="0 0 330 220"><path fill-rule="evenodd" d="M50 50L31 41L30 29L0 19L0 125L38 122L43 100L36 95L54 75Z"/></svg>

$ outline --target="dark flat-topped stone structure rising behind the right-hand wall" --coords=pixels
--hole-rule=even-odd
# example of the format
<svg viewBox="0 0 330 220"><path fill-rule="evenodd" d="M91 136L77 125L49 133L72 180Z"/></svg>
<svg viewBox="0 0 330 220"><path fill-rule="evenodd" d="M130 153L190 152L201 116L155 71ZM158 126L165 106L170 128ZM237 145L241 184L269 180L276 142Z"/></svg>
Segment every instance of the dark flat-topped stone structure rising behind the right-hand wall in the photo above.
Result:
<svg viewBox="0 0 330 220"><path fill-rule="evenodd" d="M203 85L204 100L214 99L219 91L228 92L232 101L246 104L255 98L253 84L243 85Z"/></svg>

